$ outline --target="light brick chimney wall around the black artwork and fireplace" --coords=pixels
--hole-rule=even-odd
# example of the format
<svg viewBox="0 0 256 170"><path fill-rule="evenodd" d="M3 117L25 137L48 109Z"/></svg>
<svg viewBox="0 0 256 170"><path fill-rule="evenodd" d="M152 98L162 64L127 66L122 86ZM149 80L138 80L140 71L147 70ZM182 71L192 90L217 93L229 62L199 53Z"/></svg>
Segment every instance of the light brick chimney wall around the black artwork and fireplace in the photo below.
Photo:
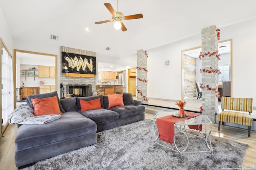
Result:
<svg viewBox="0 0 256 170"><path fill-rule="evenodd" d="M96 57L96 53L92 51L85 51L81 49L73 49L70 47L60 47L60 52L67 52L67 53L73 53L73 54L80 54L80 55L87 55ZM62 53L60 53L60 65L62 62ZM87 77L66 77L65 73L62 72L62 68L60 68L60 83L63 84L63 92L64 97L66 98L67 95L67 89L66 86L68 84L90 84L92 86L92 92L96 91L96 75L94 75L94 78L87 78Z"/></svg>

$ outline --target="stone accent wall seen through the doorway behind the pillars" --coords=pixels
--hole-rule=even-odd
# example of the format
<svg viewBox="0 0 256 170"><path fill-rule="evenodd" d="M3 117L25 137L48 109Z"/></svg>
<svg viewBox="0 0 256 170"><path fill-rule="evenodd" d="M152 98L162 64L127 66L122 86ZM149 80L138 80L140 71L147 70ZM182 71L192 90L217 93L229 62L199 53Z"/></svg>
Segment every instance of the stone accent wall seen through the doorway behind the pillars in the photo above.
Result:
<svg viewBox="0 0 256 170"><path fill-rule="evenodd" d="M196 59L183 56L184 99L196 97Z"/></svg>

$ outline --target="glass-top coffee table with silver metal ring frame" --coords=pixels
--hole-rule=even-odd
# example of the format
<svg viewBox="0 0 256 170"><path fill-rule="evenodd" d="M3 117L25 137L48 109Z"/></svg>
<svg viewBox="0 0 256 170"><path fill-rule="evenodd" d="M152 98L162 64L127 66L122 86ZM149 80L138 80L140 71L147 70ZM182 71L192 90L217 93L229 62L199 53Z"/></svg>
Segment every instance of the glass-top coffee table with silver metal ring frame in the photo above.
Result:
<svg viewBox="0 0 256 170"><path fill-rule="evenodd" d="M166 147L170 150L178 152L180 154L180 157L182 157L182 154L198 153L198 152L211 152L212 155L213 155L212 143L211 143L212 121L210 121L210 119L208 119L208 117L206 115L198 115L196 117L188 117L187 119L184 119L184 120L181 120L181 121L176 121L174 123L174 133L175 134L174 134L174 137L173 137L173 144L174 144L173 148L171 148L170 147L171 145L167 142L160 142L162 140L159 138L159 131L158 131L156 119L160 118L160 117L164 117L164 116L172 116L173 113L174 113L174 111L164 111L164 112L158 112L155 115L154 122L153 122L154 123L154 144L160 145L162 147ZM189 112L186 113L186 114L189 114ZM194 134L185 132L184 131L185 126L188 126L188 125L198 125L199 134L194 135ZM203 134L200 131L200 128L199 128L200 125L202 125L202 126L204 125L205 134ZM209 130L207 130L207 125L210 125ZM175 141L175 138L178 134L179 135L180 134L184 135L186 137L186 147L183 150L178 148L177 143ZM186 152L186 150L188 149L188 145L189 145L188 135L192 135L192 136L198 138L198 140L203 139L205 141L205 144L206 144L208 150L198 150L198 151L188 151L188 152Z"/></svg>

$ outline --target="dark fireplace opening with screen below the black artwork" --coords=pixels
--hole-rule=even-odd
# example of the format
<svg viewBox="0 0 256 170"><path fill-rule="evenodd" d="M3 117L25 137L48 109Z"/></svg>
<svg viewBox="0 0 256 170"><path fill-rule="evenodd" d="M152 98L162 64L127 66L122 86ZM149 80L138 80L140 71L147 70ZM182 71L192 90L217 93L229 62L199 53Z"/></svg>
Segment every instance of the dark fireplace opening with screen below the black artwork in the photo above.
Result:
<svg viewBox="0 0 256 170"><path fill-rule="evenodd" d="M92 86L90 84L68 84L67 94L70 94L71 97L92 96Z"/></svg>

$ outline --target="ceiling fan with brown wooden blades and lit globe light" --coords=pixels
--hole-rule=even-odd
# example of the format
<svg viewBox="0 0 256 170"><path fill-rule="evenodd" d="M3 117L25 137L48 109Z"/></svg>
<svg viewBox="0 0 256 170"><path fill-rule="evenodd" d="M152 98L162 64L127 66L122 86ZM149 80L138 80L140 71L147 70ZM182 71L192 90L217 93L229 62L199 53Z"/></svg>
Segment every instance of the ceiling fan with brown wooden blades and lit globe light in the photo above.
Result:
<svg viewBox="0 0 256 170"><path fill-rule="evenodd" d="M122 31L127 31L127 28L124 26L124 23L120 22L121 20L133 20L133 19L143 18L142 14L124 16L122 12L118 12L118 0L117 0L117 11L115 11L114 8L109 3L105 3L104 5L109 10L109 12L112 14L112 20L99 21L99 22L95 22L95 24L101 24L101 23L115 21L114 27L116 29L121 28Z"/></svg>

